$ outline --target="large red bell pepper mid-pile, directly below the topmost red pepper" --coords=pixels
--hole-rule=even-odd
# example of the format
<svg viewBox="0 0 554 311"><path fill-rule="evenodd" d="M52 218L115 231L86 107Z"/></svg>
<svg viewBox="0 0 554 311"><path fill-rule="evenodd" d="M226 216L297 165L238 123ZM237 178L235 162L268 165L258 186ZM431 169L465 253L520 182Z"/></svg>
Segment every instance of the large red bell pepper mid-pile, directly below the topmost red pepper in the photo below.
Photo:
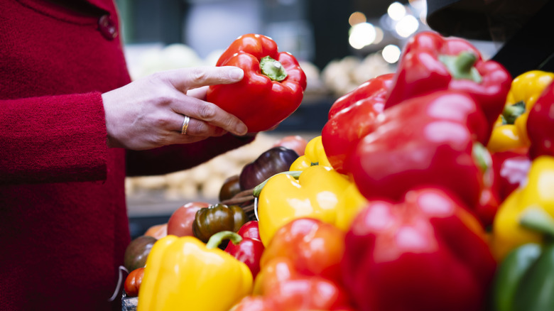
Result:
<svg viewBox="0 0 554 311"><path fill-rule="evenodd" d="M474 209L485 175L473 146L484 126L482 111L464 92L408 99L376 119L348 155L346 168L368 200L401 200L412 187L433 185Z"/></svg>

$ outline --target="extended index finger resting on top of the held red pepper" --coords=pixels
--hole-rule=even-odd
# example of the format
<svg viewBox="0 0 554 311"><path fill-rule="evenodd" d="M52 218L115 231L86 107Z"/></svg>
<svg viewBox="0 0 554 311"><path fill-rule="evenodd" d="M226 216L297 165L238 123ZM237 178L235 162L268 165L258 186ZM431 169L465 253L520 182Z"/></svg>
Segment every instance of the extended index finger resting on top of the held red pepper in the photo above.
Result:
<svg viewBox="0 0 554 311"><path fill-rule="evenodd" d="M161 75L175 89L186 93L189 89L197 87L239 82L244 77L244 71L234 66L195 67L168 70Z"/></svg>

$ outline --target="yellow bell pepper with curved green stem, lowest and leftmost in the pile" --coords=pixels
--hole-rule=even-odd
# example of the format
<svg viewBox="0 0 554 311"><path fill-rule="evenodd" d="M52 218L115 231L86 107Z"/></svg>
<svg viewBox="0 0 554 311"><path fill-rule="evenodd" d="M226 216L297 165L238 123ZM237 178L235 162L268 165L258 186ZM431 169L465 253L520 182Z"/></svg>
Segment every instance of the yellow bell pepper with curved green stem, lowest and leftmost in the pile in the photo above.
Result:
<svg viewBox="0 0 554 311"><path fill-rule="evenodd" d="M217 245L193 236L165 236L153 245L138 311L227 311L252 290L252 274ZM219 243L218 243L219 244Z"/></svg>

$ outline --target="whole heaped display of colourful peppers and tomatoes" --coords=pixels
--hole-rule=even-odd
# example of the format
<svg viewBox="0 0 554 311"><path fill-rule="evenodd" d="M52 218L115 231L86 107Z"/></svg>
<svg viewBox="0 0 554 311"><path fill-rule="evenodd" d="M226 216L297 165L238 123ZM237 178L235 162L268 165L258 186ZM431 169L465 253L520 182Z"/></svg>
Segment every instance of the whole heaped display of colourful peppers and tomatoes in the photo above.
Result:
<svg viewBox="0 0 554 311"><path fill-rule="evenodd" d="M268 144L219 181L219 202L185 202L165 234L131 241L124 300L554 310L553 107L554 73L511 77L467 40L416 33L319 136Z"/></svg>

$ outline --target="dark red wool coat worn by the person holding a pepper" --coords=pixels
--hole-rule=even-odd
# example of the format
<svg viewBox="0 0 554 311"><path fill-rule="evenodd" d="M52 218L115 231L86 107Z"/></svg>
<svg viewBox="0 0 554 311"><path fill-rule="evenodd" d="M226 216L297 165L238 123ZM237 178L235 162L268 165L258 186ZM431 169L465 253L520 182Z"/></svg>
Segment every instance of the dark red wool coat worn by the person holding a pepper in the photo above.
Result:
<svg viewBox="0 0 554 311"><path fill-rule="evenodd" d="M121 310L108 299L129 243L126 173L182 170L246 143L107 148L101 94L129 82L116 9L66 2L90 13L0 0L0 310Z"/></svg>

